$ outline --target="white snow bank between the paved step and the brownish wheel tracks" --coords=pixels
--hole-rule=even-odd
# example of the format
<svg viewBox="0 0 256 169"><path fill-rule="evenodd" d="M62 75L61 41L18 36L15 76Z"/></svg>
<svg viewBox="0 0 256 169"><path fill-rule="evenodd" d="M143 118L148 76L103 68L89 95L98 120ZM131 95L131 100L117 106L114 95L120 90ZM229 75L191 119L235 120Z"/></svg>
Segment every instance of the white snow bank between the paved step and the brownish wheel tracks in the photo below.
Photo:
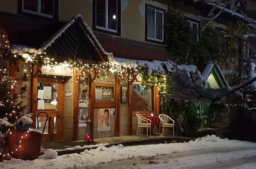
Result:
<svg viewBox="0 0 256 169"><path fill-rule="evenodd" d="M220 139L219 137L212 135L198 138L197 141L190 141L189 143L170 143L127 147L122 147L121 145L118 145L109 148L106 148L104 145L101 144L96 149L85 150L80 154L75 153L61 155L58 156L56 159L46 159L43 156L33 161L22 161L21 164L16 164L17 162L5 162L4 164L0 163L0 167L4 167L5 169L40 169L47 166L48 169L66 169L72 168L74 167L74 165L76 165L77 168L91 168L91 166L95 166L97 164L111 163L116 161L122 161L125 159L161 156L177 152L188 152L192 150L239 147L243 149L256 149L256 143L244 142L239 140ZM54 153L54 157L56 157L55 151L48 151L50 151L49 156L52 157L52 153ZM255 154L255 150L252 153ZM155 168L157 167L155 166Z"/></svg>

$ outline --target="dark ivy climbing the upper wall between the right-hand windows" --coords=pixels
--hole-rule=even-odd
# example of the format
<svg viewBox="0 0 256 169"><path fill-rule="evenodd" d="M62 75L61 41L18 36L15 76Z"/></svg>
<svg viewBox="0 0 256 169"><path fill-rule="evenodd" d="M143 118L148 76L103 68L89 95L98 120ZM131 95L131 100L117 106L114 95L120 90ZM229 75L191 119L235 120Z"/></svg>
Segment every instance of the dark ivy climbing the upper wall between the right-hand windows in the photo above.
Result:
<svg viewBox="0 0 256 169"><path fill-rule="evenodd" d="M219 60L220 47L216 30L207 27L199 41L193 40L192 30L179 10L168 8L166 14L167 52L178 64L194 64L200 71L209 61Z"/></svg>

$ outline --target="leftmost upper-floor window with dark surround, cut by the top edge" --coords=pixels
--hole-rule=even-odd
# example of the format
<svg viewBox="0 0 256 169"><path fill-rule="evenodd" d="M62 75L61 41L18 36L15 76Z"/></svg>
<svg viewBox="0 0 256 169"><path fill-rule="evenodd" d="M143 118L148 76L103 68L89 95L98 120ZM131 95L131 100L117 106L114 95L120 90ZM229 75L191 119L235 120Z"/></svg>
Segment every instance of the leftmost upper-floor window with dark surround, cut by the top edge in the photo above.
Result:
<svg viewBox="0 0 256 169"><path fill-rule="evenodd" d="M57 0L21 0L21 13L54 18Z"/></svg>

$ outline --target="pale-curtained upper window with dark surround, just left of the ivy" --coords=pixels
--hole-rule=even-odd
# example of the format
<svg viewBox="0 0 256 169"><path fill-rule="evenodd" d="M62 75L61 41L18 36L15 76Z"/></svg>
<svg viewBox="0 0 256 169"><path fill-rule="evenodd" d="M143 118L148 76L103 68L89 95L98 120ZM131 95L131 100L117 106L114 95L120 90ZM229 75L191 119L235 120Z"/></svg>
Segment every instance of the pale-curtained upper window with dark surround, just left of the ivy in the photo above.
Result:
<svg viewBox="0 0 256 169"><path fill-rule="evenodd" d="M164 13L161 8L146 4L146 41L164 42Z"/></svg>

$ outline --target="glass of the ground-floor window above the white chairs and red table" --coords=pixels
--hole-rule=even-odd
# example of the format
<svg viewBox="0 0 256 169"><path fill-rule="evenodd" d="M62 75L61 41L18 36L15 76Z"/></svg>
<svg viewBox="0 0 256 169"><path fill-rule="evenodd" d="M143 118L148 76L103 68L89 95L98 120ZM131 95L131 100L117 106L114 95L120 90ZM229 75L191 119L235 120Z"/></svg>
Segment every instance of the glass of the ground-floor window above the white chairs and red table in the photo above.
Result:
<svg viewBox="0 0 256 169"><path fill-rule="evenodd" d="M154 111L154 86L144 90L141 84L132 84L132 111Z"/></svg>

